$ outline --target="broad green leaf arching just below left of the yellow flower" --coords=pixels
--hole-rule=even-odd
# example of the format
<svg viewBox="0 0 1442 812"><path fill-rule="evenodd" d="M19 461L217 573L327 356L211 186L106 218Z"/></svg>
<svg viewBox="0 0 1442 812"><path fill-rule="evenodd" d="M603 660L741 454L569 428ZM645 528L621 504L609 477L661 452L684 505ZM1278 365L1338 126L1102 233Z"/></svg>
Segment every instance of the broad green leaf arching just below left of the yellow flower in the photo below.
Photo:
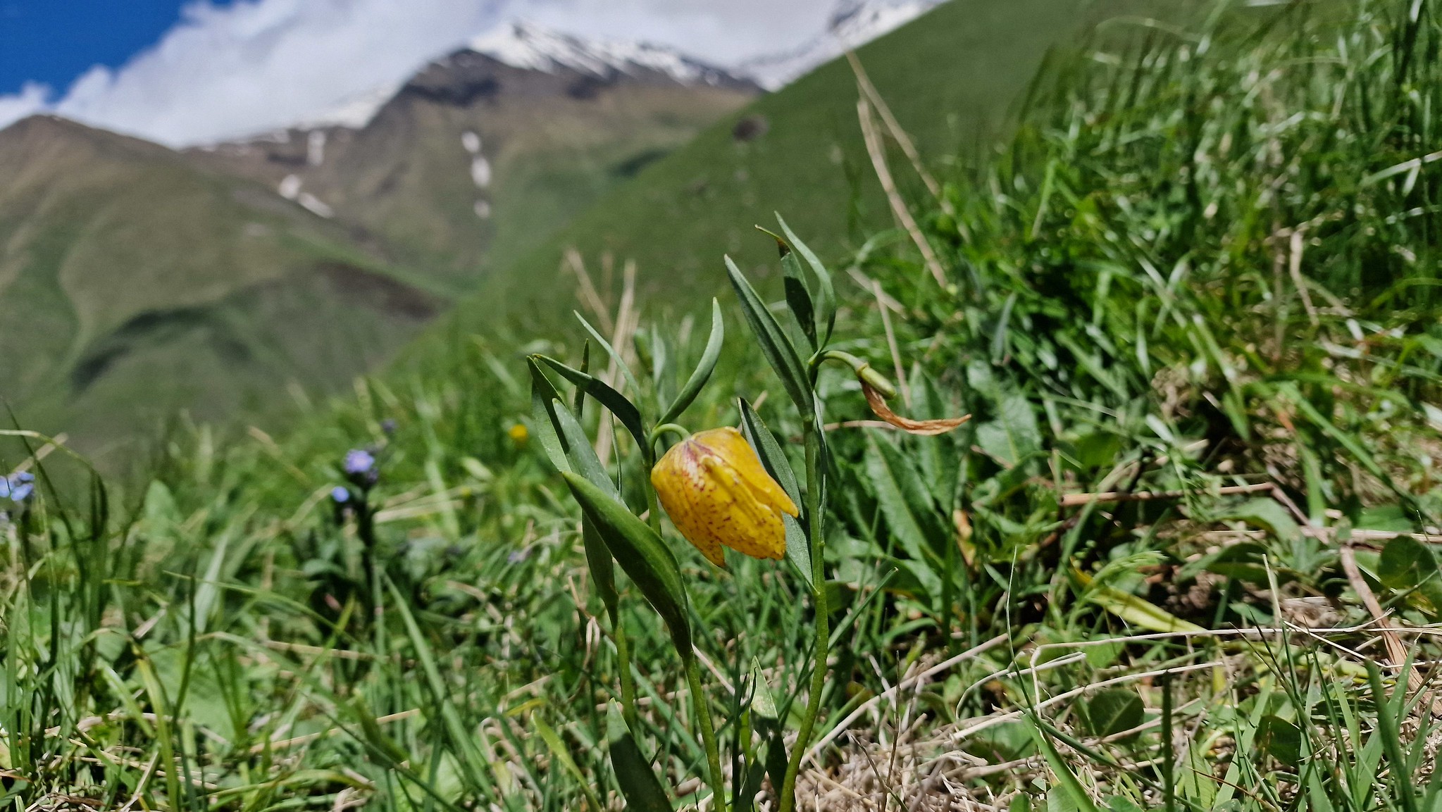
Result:
<svg viewBox="0 0 1442 812"><path fill-rule="evenodd" d="M646 522L637 519L624 505L590 480L571 472L562 472L561 477L571 487L575 500L581 503L585 516L596 524L596 531L611 551L611 557L666 622L671 639L676 645L676 653L682 659L691 658L691 616L686 610L686 587L681 581L681 568L676 565L671 548Z"/></svg>

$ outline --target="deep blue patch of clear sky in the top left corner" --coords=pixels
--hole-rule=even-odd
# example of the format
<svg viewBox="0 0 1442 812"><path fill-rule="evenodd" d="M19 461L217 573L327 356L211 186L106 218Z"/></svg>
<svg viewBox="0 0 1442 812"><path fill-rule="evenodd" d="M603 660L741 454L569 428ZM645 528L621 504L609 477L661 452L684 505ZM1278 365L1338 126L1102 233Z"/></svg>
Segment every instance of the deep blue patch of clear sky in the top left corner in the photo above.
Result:
<svg viewBox="0 0 1442 812"><path fill-rule="evenodd" d="M183 0L0 0L0 94L56 89L92 65L121 66L180 19ZM218 3L218 4L225 4Z"/></svg>

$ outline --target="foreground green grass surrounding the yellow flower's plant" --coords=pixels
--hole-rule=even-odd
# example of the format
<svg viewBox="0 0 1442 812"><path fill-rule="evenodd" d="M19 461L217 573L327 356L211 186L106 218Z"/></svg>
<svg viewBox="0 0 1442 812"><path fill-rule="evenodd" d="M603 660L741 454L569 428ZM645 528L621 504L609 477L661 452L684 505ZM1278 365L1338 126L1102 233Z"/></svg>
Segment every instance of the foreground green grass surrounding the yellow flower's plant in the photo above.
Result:
<svg viewBox="0 0 1442 812"><path fill-rule="evenodd" d="M950 164L929 147L945 195L908 195L945 284L904 232L849 255L800 232L844 257L842 346L901 366L891 405L973 415L930 438L829 433L833 688L802 808L1436 808L1442 25L1426 3L1305 12L1084 52L1004 147ZM730 307L727 325L682 421L733 424L734 397L764 392L799 467L800 421ZM647 329L633 398L675 391L701 349L682 332ZM6 803L619 800L614 629L513 350L581 363L558 335L457 329L287 437L193 428L112 505L46 490L12 515ZM870 417L848 372L819 391L826 421ZM594 401L583 417L594 433ZM373 526L329 502L359 446L382 472ZM632 506L637 456L613 446ZM1096 496L1118 492L1161 496ZM808 698L805 588L666 541L717 666L722 763L750 763L770 747L753 658L782 728ZM642 759L694 808L709 790L678 796L705 775L679 663L634 588L620 606Z"/></svg>

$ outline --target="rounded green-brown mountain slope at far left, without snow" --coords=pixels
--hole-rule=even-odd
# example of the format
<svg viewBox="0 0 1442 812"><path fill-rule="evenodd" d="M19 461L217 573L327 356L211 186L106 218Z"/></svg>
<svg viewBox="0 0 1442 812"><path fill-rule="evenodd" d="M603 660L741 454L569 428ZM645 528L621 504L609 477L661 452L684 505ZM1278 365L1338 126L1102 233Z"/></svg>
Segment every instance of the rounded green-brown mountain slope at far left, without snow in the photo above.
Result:
<svg viewBox="0 0 1442 812"><path fill-rule="evenodd" d="M27 425L94 450L176 407L335 385L438 304L339 226L164 147L53 117L0 131L0 397Z"/></svg>

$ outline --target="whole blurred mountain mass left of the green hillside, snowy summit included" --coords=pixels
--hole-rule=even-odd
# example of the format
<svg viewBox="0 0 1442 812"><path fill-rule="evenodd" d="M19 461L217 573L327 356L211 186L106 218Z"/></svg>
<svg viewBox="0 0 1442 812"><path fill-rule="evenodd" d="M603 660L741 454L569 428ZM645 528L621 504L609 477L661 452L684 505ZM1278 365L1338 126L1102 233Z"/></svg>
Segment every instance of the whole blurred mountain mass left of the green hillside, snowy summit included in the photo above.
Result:
<svg viewBox="0 0 1442 812"><path fill-rule="evenodd" d="M372 369L757 92L647 46L512 27L474 48L495 55L348 111L360 128L186 151L55 117L0 131L0 397L87 451L177 408L265 424L287 385Z"/></svg>

